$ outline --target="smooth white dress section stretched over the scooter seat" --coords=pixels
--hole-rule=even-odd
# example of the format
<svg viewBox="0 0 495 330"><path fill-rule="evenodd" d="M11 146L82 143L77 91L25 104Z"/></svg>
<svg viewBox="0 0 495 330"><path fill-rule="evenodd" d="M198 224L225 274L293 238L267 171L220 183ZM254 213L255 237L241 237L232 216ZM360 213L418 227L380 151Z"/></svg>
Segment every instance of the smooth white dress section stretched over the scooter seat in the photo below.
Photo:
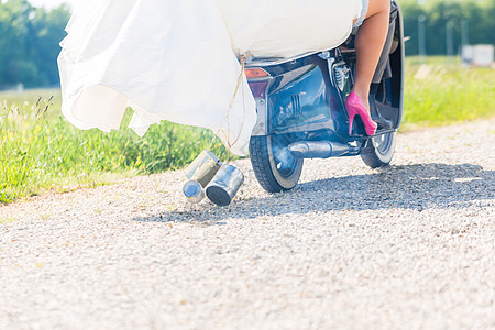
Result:
<svg viewBox="0 0 495 330"><path fill-rule="evenodd" d="M232 48L256 57L292 57L342 44L362 0L216 0Z"/></svg>

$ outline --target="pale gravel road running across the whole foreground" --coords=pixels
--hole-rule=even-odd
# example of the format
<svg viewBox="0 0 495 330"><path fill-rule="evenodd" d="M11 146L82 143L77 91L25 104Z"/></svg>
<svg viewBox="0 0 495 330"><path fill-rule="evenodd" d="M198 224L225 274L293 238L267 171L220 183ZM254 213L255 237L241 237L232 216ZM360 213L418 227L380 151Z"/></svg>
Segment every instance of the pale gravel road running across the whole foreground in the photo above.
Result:
<svg viewBox="0 0 495 330"><path fill-rule="evenodd" d="M0 208L0 329L495 329L495 120L189 206L182 173Z"/></svg>

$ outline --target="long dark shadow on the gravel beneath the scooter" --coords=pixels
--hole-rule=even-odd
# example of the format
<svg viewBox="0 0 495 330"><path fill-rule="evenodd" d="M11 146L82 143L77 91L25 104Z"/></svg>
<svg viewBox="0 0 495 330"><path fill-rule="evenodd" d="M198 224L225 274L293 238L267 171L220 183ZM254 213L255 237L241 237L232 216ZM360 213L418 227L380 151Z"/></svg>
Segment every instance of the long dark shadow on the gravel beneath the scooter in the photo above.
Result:
<svg viewBox="0 0 495 330"><path fill-rule="evenodd" d="M495 172L471 164L389 166L373 174L298 185L270 197L238 199L227 208L204 204L189 211L164 211L140 222L213 221L339 210L463 208L495 199ZM182 220L178 220L182 219Z"/></svg>

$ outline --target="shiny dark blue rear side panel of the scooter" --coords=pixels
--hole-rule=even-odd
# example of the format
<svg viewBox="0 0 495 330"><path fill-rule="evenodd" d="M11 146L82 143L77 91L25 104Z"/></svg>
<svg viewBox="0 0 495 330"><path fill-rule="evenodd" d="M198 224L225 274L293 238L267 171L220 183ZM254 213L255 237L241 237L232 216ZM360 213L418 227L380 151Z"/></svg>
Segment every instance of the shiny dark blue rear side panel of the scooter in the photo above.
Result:
<svg viewBox="0 0 495 330"><path fill-rule="evenodd" d="M253 135L337 131L343 97L330 76L328 59L312 54L263 69L271 76L250 80L258 106Z"/></svg>

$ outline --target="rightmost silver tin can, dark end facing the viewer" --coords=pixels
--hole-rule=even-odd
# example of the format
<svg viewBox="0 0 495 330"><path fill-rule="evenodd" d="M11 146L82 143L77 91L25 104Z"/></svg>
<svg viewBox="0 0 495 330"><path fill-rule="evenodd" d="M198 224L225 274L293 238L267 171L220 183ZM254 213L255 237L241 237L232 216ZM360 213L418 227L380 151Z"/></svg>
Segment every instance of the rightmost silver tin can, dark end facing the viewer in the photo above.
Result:
<svg viewBox="0 0 495 330"><path fill-rule="evenodd" d="M244 175L239 168L223 165L208 186L206 194L216 205L228 206L243 183Z"/></svg>

